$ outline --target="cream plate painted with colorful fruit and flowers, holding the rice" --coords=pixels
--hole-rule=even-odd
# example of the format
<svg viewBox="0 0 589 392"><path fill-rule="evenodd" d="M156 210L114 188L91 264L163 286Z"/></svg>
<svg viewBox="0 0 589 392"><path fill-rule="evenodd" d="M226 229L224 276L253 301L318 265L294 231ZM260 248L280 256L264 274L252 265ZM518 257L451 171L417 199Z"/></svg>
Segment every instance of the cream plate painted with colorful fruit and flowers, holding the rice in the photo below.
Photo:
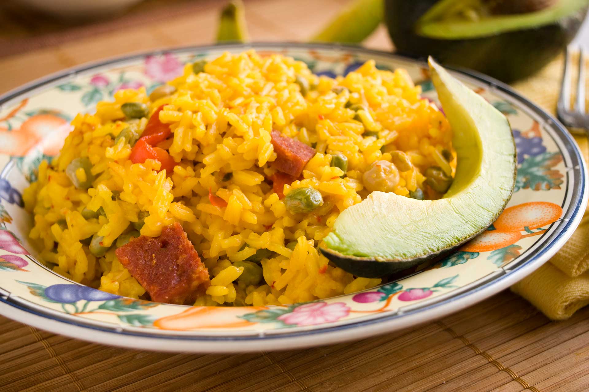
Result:
<svg viewBox="0 0 589 392"><path fill-rule="evenodd" d="M100 292L59 276L35 259L22 191L42 159L55 156L78 112L121 88L147 91L183 63L224 51L280 52L321 75L345 75L368 59L409 71L436 101L425 63L345 46L259 43L180 48L93 63L35 81L0 98L0 313L54 333L162 351L292 349L360 339L462 309L509 287L546 262L580 222L587 173L567 130L508 86L487 76L455 76L501 110L518 150L514 229L493 226L428 269L362 293L268 307L188 307ZM517 226L517 227L516 227ZM520 230L521 228L521 230Z"/></svg>

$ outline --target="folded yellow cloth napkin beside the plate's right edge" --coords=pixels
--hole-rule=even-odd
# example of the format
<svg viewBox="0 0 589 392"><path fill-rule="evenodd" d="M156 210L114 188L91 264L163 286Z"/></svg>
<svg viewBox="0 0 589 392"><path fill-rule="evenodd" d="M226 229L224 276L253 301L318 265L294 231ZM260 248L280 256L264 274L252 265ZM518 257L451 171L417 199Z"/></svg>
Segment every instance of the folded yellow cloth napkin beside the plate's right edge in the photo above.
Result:
<svg viewBox="0 0 589 392"><path fill-rule="evenodd" d="M575 137L587 160L587 139ZM573 236L552 259L511 290L518 293L547 317L564 320L589 304L589 210Z"/></svg>

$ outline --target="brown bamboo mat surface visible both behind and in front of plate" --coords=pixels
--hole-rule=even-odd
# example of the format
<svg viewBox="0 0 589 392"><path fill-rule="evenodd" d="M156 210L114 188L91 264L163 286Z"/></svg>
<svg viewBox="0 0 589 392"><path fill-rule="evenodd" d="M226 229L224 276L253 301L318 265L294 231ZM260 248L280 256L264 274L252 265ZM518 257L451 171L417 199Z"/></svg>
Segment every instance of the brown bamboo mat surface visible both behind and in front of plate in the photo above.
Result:
<svg viewBox="0 0 589 392"><path fill-rule="evenodd" d="M247 1L253 40L303 41L337 0ZM295 5L296 4L296 5ZM151 0L80 26L0 11L0 93L108 56L210 43L222 4ZM18 15L18 14L16 14ZM391 49L384 29L367 46ZM561 63L515 88L554 111ZM315 349L236 355L162 354L101 346L0 317L0 390L8 391L586 391L589 309L551 322L502 292L452 316ZM362 339L362 336L358 336Z"/></svg>

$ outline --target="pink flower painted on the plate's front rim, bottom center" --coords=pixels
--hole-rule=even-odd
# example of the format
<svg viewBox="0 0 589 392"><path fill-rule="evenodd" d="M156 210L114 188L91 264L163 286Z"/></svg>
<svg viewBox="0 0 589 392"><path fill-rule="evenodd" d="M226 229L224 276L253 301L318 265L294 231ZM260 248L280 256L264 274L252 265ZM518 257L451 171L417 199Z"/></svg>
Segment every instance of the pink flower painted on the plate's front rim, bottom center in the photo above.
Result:
<svg viewBox="0 0 589 392"><path fill-rule="evenodd" d="M316 324L332 323L348 316L350 308L343 302L326 303L312 302L297 306L291 313L277 317L284 324L297 326L312 326Z"/></svg>

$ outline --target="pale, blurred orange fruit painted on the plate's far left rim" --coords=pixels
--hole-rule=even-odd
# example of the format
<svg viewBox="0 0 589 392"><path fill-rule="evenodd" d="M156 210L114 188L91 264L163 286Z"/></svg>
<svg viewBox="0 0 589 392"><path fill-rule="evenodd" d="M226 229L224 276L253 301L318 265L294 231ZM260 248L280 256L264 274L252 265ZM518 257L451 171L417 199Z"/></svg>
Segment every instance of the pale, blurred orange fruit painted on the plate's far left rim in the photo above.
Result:
<svg viewBox="0 0 589 392"><path fill-rule="evenodd" d="M71 125L50 114L35 115L14 130L0 129L0 153L24 156L38 146L45 155L55 156L64 145Z"/></svg>

